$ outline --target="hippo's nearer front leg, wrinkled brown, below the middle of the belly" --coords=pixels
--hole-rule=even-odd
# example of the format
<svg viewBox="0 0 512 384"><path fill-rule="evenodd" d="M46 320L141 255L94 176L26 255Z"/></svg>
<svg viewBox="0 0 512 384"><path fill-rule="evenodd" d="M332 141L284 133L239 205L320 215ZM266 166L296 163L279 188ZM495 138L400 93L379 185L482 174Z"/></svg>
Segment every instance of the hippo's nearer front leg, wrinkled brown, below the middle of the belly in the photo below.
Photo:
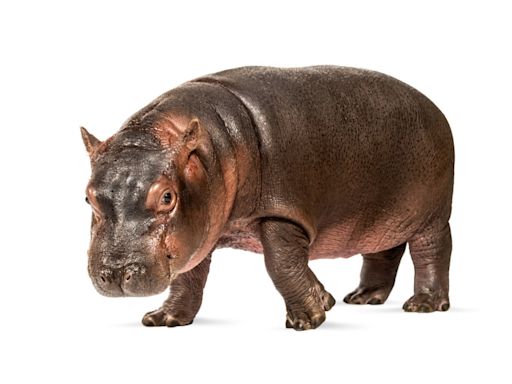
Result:
<svg viewBox="0 0 512 384"><path fill-rule="evenodd" d="M286 327L318 327L335 300L308 267L306 233L286 220L266 219L261 223L261 241L267 271L286 304Z"/></svg>

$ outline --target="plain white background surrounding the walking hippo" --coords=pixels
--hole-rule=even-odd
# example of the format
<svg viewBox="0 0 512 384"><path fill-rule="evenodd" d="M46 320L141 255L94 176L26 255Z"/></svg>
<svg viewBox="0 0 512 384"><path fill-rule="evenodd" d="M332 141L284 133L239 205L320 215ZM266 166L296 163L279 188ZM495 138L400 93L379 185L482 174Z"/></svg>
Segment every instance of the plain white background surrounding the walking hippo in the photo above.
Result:
<svg viewBox="0 0 512 384"><path fill-rule="evenodd" d="M506 3L2 2L0 381L510 383ZM456 145L452 309L402 312L408 254L383 306L342 302L360 257L313 262L338 304L310 332L284 328L262 257L240 251L215 254L189 327L140 324L165 295L98 295L86 271L78 127L105 139L160 93L221 69L312 64L388 73L446 114Z"/></svg>

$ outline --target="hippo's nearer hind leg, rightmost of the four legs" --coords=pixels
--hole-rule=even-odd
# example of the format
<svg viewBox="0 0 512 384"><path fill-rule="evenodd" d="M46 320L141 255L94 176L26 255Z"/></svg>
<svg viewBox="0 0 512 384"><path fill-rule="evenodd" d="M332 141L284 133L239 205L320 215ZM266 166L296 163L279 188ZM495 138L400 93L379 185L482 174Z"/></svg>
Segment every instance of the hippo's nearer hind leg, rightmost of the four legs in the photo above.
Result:
<svg viewBox="0 0 512 384"><path fill-rule="evenodd" d="M448 299L448 272L452 238L448 223L439 229L431 226L409 240L414 263L414 295L405 302L407 312L446 311Z"/></svg>

